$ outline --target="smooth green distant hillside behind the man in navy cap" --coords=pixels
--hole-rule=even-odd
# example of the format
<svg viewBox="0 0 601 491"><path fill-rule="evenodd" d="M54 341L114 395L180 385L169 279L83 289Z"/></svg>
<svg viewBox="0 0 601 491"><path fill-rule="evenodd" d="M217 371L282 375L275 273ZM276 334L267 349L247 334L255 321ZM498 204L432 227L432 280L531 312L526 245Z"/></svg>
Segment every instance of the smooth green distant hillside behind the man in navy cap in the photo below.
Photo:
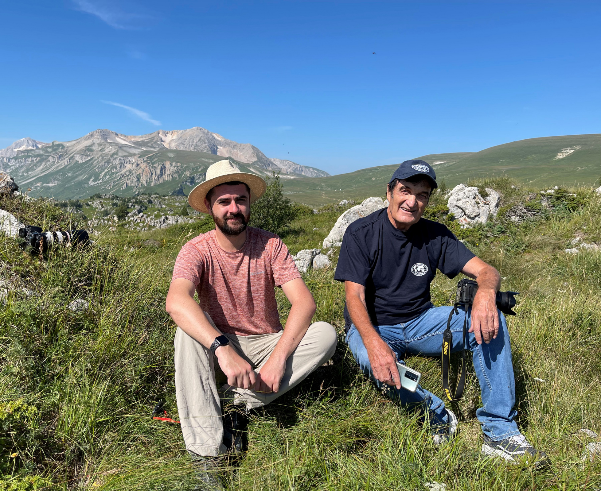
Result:
<svg viewBox="0 0 601 491"><path fill-rule="evenodd" d="M575 148L554 160L562 149ZM533 138L493 146L480 152L430 154L421 158L435 165L439 182L453 187L469 179L510 175L529 185L593 184L601 175L601 134ZM326 178L284 182L290 199L311 206L361 196L383 196L398 164L370 167Z"/></svg>

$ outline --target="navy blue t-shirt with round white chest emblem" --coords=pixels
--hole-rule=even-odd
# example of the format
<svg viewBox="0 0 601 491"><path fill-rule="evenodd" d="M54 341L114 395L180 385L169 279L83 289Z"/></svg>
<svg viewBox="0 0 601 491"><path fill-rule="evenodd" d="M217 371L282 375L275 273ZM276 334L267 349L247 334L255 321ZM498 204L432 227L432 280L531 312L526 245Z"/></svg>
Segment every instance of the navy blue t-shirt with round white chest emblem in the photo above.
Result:
<svg viewBox="0 0 601 491"><path fill-rule="evenodd" d="M430 283L449 278L475 255L444 225L421 218L406 232L390 223L388 208L354 221L344 232L334 279L365 286L373 325L396 325L430 309ZM344 306L346 330L349 312Z"/></svg>

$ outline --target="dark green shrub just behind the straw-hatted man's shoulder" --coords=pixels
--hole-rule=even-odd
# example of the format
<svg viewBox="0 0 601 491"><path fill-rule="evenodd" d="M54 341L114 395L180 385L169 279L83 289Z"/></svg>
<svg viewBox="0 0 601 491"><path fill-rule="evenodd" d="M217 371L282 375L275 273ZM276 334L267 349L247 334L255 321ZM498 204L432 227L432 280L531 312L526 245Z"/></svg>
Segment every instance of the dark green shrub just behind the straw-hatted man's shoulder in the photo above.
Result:
<svg viewBox="0 0 601 491"><path fill-rule="evenodd" d="M295 208L282 194L282 183L279 174L272 173L267 178L267 190L260 199L251 206L250 225L269 232L279 233L296 217Z"/></svg>

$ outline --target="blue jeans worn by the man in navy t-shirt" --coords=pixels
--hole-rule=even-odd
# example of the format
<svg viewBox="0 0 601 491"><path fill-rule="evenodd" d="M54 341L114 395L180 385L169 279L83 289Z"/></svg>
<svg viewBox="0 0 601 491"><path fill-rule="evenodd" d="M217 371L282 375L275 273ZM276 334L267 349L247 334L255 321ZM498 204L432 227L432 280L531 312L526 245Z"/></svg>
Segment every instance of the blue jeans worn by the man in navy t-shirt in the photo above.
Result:
<svg viewBox="0 0 601 491"><path fill-rule="evenodd" d="M412 321L397 325L374 326L374 328L392 351L396 352L398 360L403 360L407 353L439 357L442 349L442 334L447 328L451 309L453 307L432 307ZM452 352L463 349L464 318L465 312L459 309L459 315L453 315L451 319ZM483 432L493 441L519 435L520 431L514 421L516 411L513 406L516 403L516 390L509 333L504 316L499 312L499 334L496 339L490 340L489 344L478 345L474 333L468 333L468 336L467 348L472 352L474 370L480 382L483 407L476 411L476 416L482 424ZM382 382L376 381L373 377L367 349L355 325L351 325L346 335L346 343L361 370L382 388ZM441 427L448 423L444 402L421 386L415 393L393 387L388 394L391 399L397 400L403 406L421 406L434 427Z"/></svg>

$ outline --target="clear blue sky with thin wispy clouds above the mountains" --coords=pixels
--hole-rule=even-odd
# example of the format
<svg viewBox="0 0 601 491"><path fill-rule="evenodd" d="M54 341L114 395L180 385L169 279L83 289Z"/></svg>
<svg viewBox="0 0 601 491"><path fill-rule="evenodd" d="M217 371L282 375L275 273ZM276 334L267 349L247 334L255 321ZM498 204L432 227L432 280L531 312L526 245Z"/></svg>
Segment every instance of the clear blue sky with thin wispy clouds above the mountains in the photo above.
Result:
<svg viewBox="0 0 601 491"><path fill-rule="evenodd" d="M202 126L341 173L601 133L600 2L0 8L0 147Z"/></svg>

